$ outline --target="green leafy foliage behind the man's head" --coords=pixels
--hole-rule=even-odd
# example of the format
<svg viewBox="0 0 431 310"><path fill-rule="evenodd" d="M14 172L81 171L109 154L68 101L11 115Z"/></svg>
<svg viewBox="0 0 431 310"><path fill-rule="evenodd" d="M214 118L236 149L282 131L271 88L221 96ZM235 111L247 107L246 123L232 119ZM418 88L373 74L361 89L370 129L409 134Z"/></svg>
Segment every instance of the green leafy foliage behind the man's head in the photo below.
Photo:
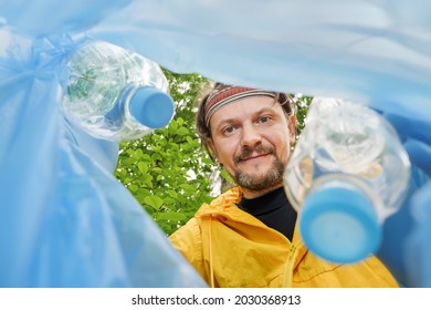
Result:
<svg viewBox="0 0 431 310"><path fill-rule="evenodd" d="M212 163L195 131L197 96L209 81L198 74L164 72L176 102L174 120L143 138L123 142L115 175L170 235L213 198L214 176L221 177L222 188L232 179ZM311 97L293 97L301 133Z"/></svg>

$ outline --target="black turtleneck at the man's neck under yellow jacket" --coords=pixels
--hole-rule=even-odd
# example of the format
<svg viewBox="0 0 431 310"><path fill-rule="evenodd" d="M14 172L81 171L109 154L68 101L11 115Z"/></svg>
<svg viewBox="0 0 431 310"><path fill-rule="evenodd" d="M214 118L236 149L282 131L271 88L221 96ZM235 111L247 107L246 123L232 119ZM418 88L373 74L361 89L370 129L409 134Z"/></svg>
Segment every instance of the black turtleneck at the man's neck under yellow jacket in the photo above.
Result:
<svg viewBox="0 0 431 310"><path fill-rule="evenodd" d="M238 206L292 241L296 210L288 203L283 186L253 199L242 197Z"/></svg>

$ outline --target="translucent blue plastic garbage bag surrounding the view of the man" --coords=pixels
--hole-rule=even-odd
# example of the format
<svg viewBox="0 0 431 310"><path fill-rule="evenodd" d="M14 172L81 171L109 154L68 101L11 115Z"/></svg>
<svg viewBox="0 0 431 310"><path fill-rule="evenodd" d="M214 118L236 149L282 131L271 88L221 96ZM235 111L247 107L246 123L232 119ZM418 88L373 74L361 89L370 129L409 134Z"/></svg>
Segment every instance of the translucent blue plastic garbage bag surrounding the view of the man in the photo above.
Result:
<svg viewBox="0 0 431 310"><path fill-rule="evenodd" d="M59 38L66 33L73 42L85 37L132 49L178 73L198 72L231 84L344 97L380 111L403 137L419 172L402 209L409 220L393 217L393 223L400 220L402 234L395 234L397 225L388 225L378 255L401 283L431 286L431 242L425 237L430 235L431 220L428 180L431 169L427 165L431 142L425 130L431 123L429 9L425 0L117 0L109 3L0 0L0 27L3 24L0 28L0 285L12 285L9 282L12 278L13 283L22 286L54 285L44 279L55 278L50 272L63 270L62 264L66 261L77 265L80 255L78 262L85 265L81 268L92 269L94 273L97 268L108 269L116 264L124 267L118 270L133 272L137 262L134 259L130 262L122 241L117 242L117 250L109 248L113 256L103 259L99 256L97 267L84 257L95 249L107 251L105 242L115 240L105 235L107 231L128 240L138 239L135 249L147 254L146 259L138 260L143 269L146 264L151 266L151 257L159 259L158 254L146 251L140 240L146 239L146 229L150 229L146 216L119 185L114 185L109 174L116 162L116 146L94 143L61 120L54 100L57 72L42 65L44 61L52 63L52 54L45 59L45 48L42 48L42 52L29 55L35 38L61 42L63 39ZM10 50L4 45L8 41L4 37L9 38L8 46L13 45L13 40L18 42L20 53L13 52L13 56L2 53ZM56 44L54 50L63 51L67 46ZM425 127L421 130L419 124ZM90 184L95 187L84 190L81 182L87 188ZM106 188L94 190L102 188L97 182L109 183L109 193ZM82 192L67 197L74 198L66 204L70 208L57 207L67 193L73 193L65 190L75 188L73 184ZM114 193L122 198L111 200L108 197ZM91 202L93 208L85 207L88 205L84 200ZM114 202L122 207L113 207ZM91 210L97 214L92 217L82 214ZM129 214L135 211L138 214L135 220L146 225L124 231L118 223L129 219ZM59 213L64 216L62 220ZM94 223L84 225L86 218ZM99 225L106 221L112 225ZM53 223L59 223L56 228ZM105 242L96 242L99 235L83 228L95 229L96 224L103 226L97 234L106 237ZM76 229L66 234L64 227ZM139 237L135 239L136 236ZM78 249L70 259L65 259L62 250L57 254L53 250L65 249L65 241L72 248L66 237L73 238L72 244ZM92 242L99 247L88 246ZM168 247L158 242L158 247L165 246ZM416 255L411 255L413 250ZM175 269L170 267L169 270ZM162 268L153 270L160 272L159 279L166 276ZM102 278L106 280L109 275L113 272ZM177 275L180 277L180 271ZM132 279L123 276L109 279ZM112 286L113 282L82 278L57 285ZM175 285L160 280L161 283ZM141 280L139 285L154 282Z"/></svg>

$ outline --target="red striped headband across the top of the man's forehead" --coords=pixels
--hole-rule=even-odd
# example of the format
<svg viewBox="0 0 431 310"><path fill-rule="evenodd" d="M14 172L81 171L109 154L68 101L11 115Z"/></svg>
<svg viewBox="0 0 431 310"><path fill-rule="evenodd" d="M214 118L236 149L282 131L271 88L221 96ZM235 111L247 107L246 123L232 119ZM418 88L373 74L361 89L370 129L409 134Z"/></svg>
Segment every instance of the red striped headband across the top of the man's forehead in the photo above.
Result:
<svg viewBox="0 0 431 310"><path fill-rule="evenodd" d="M206 115L204 115L207 127L209 127L210 125L211 116L214 114L217 110L219 110L223 105L227 105L228 103L232 103L236 100L241 100L249 96L257 96L257 95L275 97L274 92L242 87L242 86L228 86L221 90L217 90L217 89L213 90L207 99Z"/></svg>

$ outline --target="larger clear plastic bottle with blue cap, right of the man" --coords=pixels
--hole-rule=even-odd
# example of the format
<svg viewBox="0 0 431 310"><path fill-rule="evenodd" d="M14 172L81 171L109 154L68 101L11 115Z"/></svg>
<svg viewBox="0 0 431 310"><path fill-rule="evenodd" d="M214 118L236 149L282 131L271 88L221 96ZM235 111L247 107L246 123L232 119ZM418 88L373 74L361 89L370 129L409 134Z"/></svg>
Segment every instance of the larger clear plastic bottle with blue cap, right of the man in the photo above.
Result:
<svg viewBox="0 0 431 310"><path fill-rule="evenodd" d="M315 99L284 173L299 232L320 258L349 264L375 252L399 210L410 162L392 126L364 105Z"/></svg>

